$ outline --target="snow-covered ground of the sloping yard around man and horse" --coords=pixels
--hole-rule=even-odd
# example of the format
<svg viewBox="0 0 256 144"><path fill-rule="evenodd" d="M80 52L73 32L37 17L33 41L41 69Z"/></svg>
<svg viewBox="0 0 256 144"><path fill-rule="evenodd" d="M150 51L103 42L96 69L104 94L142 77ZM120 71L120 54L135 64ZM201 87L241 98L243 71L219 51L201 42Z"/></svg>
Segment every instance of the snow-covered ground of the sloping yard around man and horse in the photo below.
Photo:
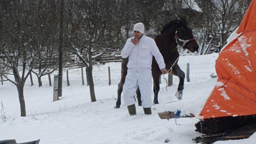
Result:
<svg viewBox="0 0 256 144"><path fill-rule="evenodd" d="M31 87L28 79L24 88L26 117L20 117L16 87L4 82L0 85L0 101L8 119L0 119L0 140L16 139L21 143L40 139L40 144L162 144L169 138L172 144L195 143L192 139L201 135L194 131L196 118L167 121L160 119L157 113L179 109L182 114L198 115L217 81L210 77L211 73L216 75L217 56L182 56L179 64L184 72L190 63L190 82L185 82L183 99L178 101L174 96L178 78L174 76L174 85L166 89L163 78L167 75L164 75L159 92L160 104L152 107L152 115L144 115L142 107L137 105L135 116L130 116L124 105L114 109L121 63L94 66L96 102L90 102L89 86L86 86L86 79L82 85L80 69L69 70L70 86L66 85L64 77L63 96L55 102L47 76L43 77L40 88L37 84ZM112 69L112 85L108 85L108 66ZM35 75L33 79L36 83ZM151 96L154 97L153 93ZM255 141L256 134L253 134L248 139L216 144L252 144Z"/></svg>

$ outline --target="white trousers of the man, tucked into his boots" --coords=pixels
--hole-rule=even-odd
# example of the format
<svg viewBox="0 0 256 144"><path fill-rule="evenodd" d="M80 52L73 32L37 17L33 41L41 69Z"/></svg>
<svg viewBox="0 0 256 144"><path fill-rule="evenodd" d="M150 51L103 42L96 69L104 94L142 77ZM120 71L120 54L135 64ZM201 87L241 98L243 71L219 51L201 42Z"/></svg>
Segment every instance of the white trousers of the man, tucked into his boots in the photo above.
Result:
<svg viewBox="0 0 256 144"><path fill-rule="evenodd" d="M143 108L150 108L153 105L151 99L152 91L152 74L151 70L142 72L127 72L125 77L125 84L123 86L123 97L126 106L135 104L134 94L137 88L141 92L141 105Z"/></svg>

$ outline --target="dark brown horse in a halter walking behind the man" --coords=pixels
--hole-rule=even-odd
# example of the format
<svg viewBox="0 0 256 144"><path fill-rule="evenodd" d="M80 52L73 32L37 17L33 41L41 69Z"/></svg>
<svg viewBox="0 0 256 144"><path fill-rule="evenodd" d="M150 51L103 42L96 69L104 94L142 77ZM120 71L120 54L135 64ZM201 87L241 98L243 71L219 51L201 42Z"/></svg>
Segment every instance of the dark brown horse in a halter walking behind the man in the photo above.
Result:
<svg viewBox="0 0 256 144"><path fill-rule="evenodd" d="M156 36L155 42L162 56L164 57L166 69L169 69L171 74L178 76L180 79L178 89L175 95L178 99L181 99L184 89L185 73L180 69L179 65L177 64L179 52L177 51L176 47L177 45L180 45L183 47L183 49L188 49L190 52L195 52L198 50L198 44L194 39L192 30L187 26L187 21L184 18L181 20L173 20L164 26L161 34ZM116 101L115 108L120 108L121 105L121 92L122 87L125 83L125 76L127 74L127 63L128 59L123 59L121 81L118 84L118 99ZM153 57L152 76L154 81L154 104L158 104L158 92L160 89L159 79L161 74L161 70L159 69L157 62ZM136 93L138 97L138 103L140 105L141 100L139 90L137 90Z"/></svg>

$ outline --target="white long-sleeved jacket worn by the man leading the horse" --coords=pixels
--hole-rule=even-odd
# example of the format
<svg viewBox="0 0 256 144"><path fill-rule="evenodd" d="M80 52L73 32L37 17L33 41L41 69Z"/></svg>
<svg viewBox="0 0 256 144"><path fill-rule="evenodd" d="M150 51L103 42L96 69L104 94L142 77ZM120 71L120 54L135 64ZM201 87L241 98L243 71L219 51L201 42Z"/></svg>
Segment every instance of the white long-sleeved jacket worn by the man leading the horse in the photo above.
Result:
<svg viewBox="0 0 256 144"><path fill-rule="evenodd" d="M132 37L134 39L134 37ZM160 69L165 68L164 58L161 55L154 39L142 36L138 43L131 43L131 38L127 39L125 47L121 51L122 58L129 56L127 64L129 71L139 72L151 69L152 56L155 57Z"/></svg>

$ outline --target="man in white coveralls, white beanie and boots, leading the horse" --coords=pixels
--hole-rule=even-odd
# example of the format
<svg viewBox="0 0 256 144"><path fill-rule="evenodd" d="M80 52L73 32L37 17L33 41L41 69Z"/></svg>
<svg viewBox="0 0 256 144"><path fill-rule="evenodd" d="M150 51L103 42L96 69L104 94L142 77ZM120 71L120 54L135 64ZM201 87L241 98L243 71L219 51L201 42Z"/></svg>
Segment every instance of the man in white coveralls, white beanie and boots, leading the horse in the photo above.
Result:
<svg viewBox="0 0 256 144"><path fill-rule="evenodd" d="M125 47L121 51L122 58L128 57L127 75L123 86L124 103L128 107L130 115L136 115L135 99L133 97L139 86L141 92L141 105L144 114L151 115L152 56L155 57L163 74L165 68L164 59L154 39L144 36L143 23L136 23L133 27L134 37L127 39Z"/></svg>

